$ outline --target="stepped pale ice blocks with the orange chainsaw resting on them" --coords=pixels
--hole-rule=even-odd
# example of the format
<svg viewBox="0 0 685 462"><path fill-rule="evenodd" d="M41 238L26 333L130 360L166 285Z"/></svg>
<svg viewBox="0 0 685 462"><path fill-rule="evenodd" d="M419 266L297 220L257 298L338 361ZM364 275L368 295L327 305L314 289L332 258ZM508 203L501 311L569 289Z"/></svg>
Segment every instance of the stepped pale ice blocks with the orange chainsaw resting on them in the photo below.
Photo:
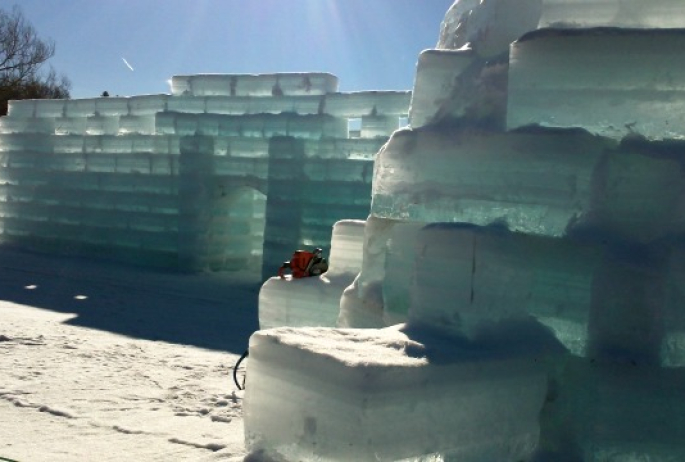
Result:
<svg viewBox="0 0 685 462"><path fill-rule="evenodd" d="M259 326L335 326L343 290L361 269L363 243L364 221L335 223L328 272L320 277L266 281L259 292Z"/></svg>

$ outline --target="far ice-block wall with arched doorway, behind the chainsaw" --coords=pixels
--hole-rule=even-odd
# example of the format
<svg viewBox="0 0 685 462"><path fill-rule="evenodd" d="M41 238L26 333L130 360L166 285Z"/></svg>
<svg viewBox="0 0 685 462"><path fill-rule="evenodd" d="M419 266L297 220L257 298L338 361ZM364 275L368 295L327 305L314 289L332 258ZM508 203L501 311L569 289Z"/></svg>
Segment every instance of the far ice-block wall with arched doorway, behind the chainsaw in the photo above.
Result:
<svg viewBox="0 0 685 462"><path fill-rule="evenodd" d="M171 90L10 102L2 242L190 271L264 259L271 275L366 217L373 156L410 100L314 72L175 76Z"/></svg>

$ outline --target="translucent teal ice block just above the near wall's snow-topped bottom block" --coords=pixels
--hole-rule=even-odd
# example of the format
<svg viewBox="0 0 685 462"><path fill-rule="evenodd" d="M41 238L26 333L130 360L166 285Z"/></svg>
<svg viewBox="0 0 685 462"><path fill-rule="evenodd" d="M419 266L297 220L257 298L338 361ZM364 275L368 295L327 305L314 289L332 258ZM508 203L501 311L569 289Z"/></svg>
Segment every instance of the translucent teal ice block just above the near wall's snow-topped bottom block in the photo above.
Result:
<svg viewBox="0 0 685 462"><path fill-rule="evenodd" d="M601 246L434 224L416 234L414 249L410 322L473 338L499 322L533 316L568 350L585 353ZM386 281L384 292L391 290L398 289Z"/></svg>

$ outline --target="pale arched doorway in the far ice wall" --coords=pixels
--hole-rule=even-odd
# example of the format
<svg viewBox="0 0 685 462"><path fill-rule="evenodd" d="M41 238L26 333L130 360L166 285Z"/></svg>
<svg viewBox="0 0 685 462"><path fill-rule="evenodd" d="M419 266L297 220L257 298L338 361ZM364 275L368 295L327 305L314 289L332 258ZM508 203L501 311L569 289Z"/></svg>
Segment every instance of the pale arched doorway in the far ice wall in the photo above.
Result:
<svg viewBox="0 0 685 462"><path fill-rule="evenodd" d="M207 232L210 271L261 271L266 195L243 186L214 201Z"/></svg>

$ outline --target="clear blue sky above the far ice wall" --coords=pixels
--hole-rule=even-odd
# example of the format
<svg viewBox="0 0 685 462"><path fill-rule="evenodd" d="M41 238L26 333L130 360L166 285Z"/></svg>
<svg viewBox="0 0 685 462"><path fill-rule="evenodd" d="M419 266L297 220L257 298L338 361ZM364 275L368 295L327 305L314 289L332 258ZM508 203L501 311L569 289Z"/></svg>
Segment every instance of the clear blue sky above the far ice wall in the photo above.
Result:
<svg viewBox="0 0 685 462"><path fill-rule="evenodd" d="M168 93L173 75L330 72L341 91L409 90L453 0L0 0L57 53L72 97ZM133 68L131 70L127 64Z"/></svg>

